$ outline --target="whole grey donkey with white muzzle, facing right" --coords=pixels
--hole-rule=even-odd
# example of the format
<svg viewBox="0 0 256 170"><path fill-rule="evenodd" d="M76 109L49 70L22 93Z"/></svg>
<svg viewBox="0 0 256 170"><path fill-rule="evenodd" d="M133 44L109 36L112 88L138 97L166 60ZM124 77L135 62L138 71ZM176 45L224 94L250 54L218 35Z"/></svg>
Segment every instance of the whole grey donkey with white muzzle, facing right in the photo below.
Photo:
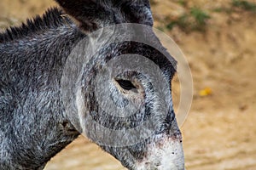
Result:
<svg viewBox="0 0 256 170"><path fill-rule="evenodd" d="M70 94L75 110L68 111L69 100L65 103L61 97L64 67L79 42L106 26L135 23L152 28L149 1L55 1L61 8L50 8L42 17L27 20L26 24L10 27L0 34L0 169L44 169L51 157L80 133L128 169L184 169L182 136L172 109L171 82L176 62L152 29L141 30L141 35L135 37L149 38L165 54L142 42L113 42L102 46L91 62L83 65L80 83L70 81L77 87ZM102 41L99 36L91 36L90 40ZM125 108L127 102L137 106L137 112L126 117L114 116L118 110L113 110L112 115L102 111L94 93L97 73L108 61L124 54L143 55L158 66L169 82L166 88L160 89L166 94L163 97L154 91L153 84L164 82L155 82L150 75L138 71L127 69L109 80L102 80L101 83L108 82L103 90L113 103L120 108ZM136 57L126 59L139 61ZM147 63L139 63L141 67L143 64ZM163 105L165 101L167 104ZM125 110L130 111L129 107ZM160 111L164 112L164 119L155 116ZM104 144L102 140L114 141L113 136L107 134L102 138L101 129L83 123L92 118L102 127L125 132L150 116L156 124L151 129L153 133L126 145ZM123 134L128 141L141 135L140 132Z"/></svg>

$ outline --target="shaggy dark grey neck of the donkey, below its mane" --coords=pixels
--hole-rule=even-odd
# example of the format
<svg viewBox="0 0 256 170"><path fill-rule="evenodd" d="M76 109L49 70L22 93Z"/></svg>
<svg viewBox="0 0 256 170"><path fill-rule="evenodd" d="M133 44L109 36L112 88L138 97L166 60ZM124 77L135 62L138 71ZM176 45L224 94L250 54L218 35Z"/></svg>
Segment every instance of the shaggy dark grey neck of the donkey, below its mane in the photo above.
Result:
<svg viewBox="0 0 256 170"><path fill-rule="evenodd" d="M55 12L44 17L61 17ZM64 20L13 31L27 32L0 35L0 169L42 169L79 135L63 109L60 82L68 54L84 35Z"/></svg>

